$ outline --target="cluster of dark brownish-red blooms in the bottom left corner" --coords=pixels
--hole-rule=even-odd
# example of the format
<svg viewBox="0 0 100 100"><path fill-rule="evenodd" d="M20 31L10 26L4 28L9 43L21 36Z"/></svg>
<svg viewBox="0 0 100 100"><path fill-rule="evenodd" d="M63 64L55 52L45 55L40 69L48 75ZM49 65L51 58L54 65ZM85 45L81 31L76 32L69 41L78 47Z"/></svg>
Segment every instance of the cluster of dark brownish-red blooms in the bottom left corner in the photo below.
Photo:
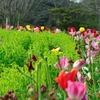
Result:
<svg viewBox="0 0 100 100"><path fill-rule="evenodd" d="M8 91L7 94L3 95L0 100L18 100L17 95L13 90Z"/></svg>

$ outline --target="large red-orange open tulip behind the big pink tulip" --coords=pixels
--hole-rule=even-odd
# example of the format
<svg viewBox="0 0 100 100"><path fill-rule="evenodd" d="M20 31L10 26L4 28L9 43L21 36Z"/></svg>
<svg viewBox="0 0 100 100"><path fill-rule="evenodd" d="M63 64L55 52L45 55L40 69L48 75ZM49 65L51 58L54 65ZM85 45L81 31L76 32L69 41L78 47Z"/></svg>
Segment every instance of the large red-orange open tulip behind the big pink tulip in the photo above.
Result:
<svg viewBox="0 0 100 100"><path fill-rule="evenodd" d="M64 70L62 70L59 73L59 76L55 79L55 81L59 84L61 89L65 90L68 87L69 80L72 82L75 81L77 72L77 69L74 69L70 72L65 72Z"/></svg>

